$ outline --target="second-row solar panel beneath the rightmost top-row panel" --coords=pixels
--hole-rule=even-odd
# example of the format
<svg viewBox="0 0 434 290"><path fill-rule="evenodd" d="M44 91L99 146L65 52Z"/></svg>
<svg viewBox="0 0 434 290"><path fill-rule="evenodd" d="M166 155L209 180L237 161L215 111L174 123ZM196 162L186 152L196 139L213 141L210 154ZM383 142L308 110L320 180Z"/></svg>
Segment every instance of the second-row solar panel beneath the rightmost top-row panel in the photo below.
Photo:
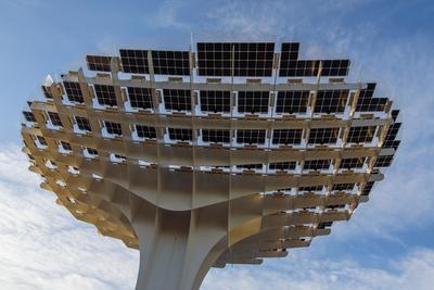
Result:
<svg viewBox="0 0 434 290"><path fill-rule="evenodd" d="M348 90L319 90L314 113L343 113Z"/></svg>

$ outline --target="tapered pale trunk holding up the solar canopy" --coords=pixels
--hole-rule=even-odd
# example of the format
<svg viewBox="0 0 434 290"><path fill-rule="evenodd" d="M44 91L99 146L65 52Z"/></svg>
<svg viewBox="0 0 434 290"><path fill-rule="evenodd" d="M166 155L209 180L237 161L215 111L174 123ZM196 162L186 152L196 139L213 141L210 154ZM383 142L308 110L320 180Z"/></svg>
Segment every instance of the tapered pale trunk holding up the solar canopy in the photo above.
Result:
<svg viewBox="0 0 434 290"><path fill-rule="evenodd" d="M141 207L131 223L140 244L136 289L199 289L227 249L225 226L209 219L206 211L145 210Z"/></svg>

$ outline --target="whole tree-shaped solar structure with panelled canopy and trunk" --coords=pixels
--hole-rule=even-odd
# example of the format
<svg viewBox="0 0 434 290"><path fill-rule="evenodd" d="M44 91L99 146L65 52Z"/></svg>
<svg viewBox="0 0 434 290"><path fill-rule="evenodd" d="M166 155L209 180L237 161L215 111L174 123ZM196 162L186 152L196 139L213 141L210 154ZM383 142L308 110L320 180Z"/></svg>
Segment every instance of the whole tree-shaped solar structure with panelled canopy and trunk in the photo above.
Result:
<svg viewBox="0 0 434 290"><path fill-rule="evenodd" d="M210 267L308 247L368 201L398 111L349 60L297 42L122 49L44 84L24 152L77 219L140 250L136 289L199 289Z"/></svg>

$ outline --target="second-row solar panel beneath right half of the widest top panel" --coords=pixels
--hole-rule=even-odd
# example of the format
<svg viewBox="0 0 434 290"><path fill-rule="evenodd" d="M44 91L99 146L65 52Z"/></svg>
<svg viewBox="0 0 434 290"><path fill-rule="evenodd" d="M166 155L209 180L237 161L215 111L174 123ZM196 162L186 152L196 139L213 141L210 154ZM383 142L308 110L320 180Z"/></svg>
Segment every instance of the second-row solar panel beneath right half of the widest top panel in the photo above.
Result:
<svg viewBox="0 0 434 290"><path fill-rule="evenodd" d="M268 113L269 91L239 91L239 113Z"/></svg>

